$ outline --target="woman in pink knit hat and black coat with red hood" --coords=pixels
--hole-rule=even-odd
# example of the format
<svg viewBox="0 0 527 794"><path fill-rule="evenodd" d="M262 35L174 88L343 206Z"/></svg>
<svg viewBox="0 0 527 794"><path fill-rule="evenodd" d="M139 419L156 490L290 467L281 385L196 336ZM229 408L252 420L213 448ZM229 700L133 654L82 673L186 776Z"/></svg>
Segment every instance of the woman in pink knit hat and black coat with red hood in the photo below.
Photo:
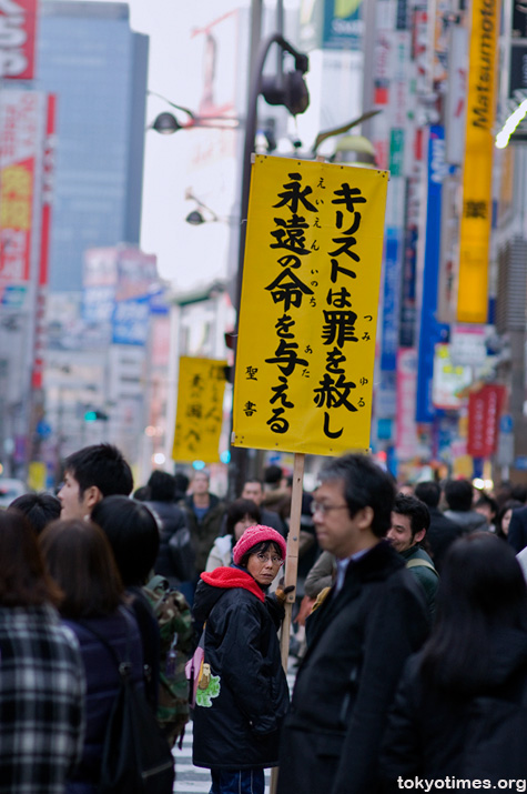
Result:
<svg viewBox="0 0 527 794"><path fill-rule="evenodd" d="M263 794L263 771L278 763L288 706L276 634L284 610L265 591L285 551L275 530L251 526L233 549L233 565L202 573L196 587L210 682L197 690L192 757L211 770L212 794Z"/></svg>

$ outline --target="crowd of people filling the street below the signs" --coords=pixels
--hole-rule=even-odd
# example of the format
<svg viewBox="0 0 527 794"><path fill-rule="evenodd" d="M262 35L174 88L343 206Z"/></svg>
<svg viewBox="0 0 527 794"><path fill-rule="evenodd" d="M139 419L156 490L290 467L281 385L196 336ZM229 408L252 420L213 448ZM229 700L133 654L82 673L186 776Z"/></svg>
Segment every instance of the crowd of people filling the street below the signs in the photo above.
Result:
<svg viewBox="0 0 527 794"><path fill-rule="evenodd" d="M291 481L268 466L225 502L206 471L154 471L132 491L97 444L57 496L0 513L0 794L100 794L115 659L175 757L193 720L211 794L263 794L266 767L277 794L526 791L527 489L328 460L302 500L291 702Z"/></svg>

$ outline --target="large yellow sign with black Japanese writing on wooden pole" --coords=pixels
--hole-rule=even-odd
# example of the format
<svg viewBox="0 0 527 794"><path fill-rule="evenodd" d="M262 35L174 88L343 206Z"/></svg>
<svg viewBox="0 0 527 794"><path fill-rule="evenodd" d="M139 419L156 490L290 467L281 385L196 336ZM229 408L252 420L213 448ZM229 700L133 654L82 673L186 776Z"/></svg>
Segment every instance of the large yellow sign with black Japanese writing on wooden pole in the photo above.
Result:
<svg viewBox="0 0 527 794"><path fill-rule="evenodd" d="M387 182L387 171L256 157L234 445L369 446Z"/></svg>

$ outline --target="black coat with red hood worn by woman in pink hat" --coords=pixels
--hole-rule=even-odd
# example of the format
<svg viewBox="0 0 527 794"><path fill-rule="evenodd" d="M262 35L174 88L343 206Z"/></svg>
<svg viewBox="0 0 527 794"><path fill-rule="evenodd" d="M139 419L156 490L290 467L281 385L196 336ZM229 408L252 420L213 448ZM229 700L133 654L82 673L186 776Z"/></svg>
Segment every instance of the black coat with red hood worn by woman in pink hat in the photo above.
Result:
<svg viewBox="0 0 527 794"><path fill-rule="evenodd" d="M226 572L226 573L225 573ZM232 572L230 574L229 572ZM240 569L220 567L211 580L250 580ZM193 763L213 770L276 766L280 730L288 706L288 690L276 635L275 599L264 602L242 586L224 589L201 580L194 617L205 627L205 664L219 676L220 693L210 706L194 708ZM276 622L273 619L277 619Z"/></svg>

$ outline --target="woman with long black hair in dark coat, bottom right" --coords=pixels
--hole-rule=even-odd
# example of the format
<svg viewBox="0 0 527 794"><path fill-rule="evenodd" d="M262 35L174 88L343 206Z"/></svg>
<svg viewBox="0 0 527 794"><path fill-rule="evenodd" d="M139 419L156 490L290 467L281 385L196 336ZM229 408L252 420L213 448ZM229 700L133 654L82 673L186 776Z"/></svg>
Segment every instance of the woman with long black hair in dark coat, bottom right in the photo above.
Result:
<svg viewBox="0 0 527 794"><path fill-rule="evenodd" d="M408 661L397 691L383 742L384 790L401 791L416 776L428 785L438 778L443 790L447 776L482 780L493 768L498 778L527 777L525 748L515 758L507 751L516 746L515 728L504 720L499 734L488 732L485 710L476 711L485 703L482 696L489 698L489 716L500 698L510 701L507 708L519 705L526 684L527 590L520 567L495 535L465 536L445 559L435 627ZM474 728L484 741L489 735L494 747L472 744ZM470 773L467 764L480 766Z"/></svg>

